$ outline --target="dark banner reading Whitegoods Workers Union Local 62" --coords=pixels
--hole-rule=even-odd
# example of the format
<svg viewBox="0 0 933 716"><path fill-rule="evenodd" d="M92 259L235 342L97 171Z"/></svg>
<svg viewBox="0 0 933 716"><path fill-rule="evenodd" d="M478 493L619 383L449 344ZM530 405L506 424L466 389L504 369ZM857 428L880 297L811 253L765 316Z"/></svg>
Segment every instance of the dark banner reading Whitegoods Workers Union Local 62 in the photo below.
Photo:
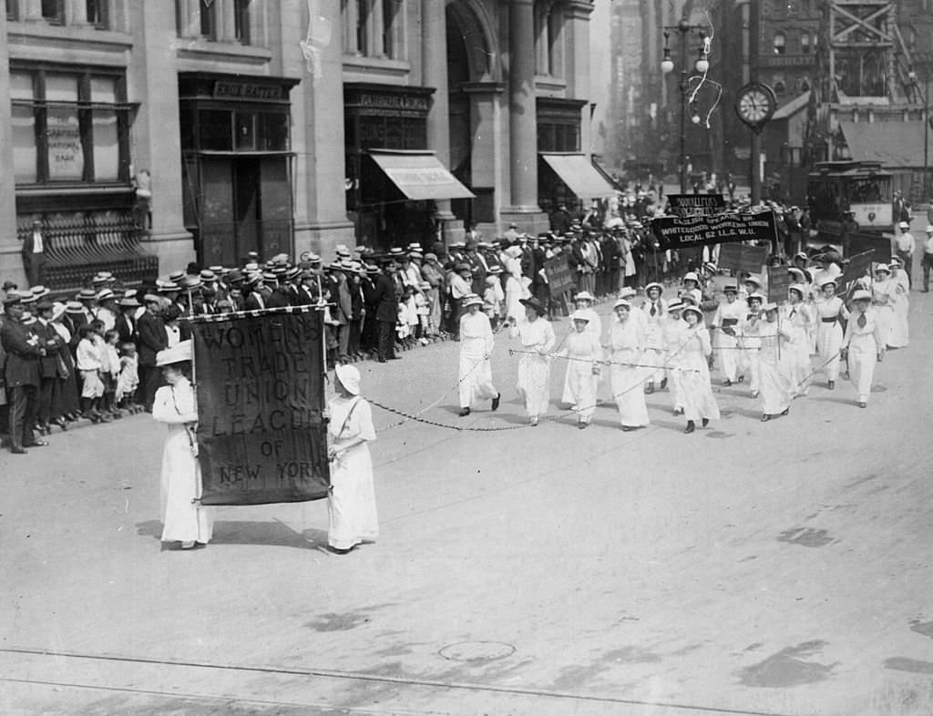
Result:
<svg viewBox="0 0 933 716"><path fill-rule="evenodd" d="M651 231L662 249L683 249L727 241L774 241L774 213L717 213L709 216L659 216Z"/></svg>

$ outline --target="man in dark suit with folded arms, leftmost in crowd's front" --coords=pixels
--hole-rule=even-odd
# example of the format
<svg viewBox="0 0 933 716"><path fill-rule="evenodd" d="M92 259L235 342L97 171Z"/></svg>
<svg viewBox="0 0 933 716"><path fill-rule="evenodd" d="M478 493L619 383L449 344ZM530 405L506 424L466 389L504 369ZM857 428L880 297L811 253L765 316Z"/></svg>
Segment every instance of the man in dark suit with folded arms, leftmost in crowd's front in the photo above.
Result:
<svg viewBox="0 0 933 716"><path fill-rule="evenodd" d="M0 327L0 342L7 351L7 395L9 397L9 451L22 455L26 447L49 445L36 440L35 408L39 388L39 359L45 355L38 337L22 324L22 296L10 292L4 298L7 319Z"/></svg>

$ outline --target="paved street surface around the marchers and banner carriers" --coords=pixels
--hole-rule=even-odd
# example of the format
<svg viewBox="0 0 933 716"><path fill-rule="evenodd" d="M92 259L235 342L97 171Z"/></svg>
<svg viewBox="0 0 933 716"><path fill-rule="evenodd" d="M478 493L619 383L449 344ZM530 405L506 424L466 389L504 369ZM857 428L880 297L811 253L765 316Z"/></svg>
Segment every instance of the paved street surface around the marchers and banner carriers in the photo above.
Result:
<svg viewBox="0 0 933 716"><path fill-rule="evenodd" d="M495 414L456 417L455 343L361 364L380 403L502 430L374 408L382 538L345 557L318 549L325 503L219 508L206 549L160 550L145 415L4 452L0 711L933 712L933 298L911 298L867 410L820 381L762 424L740 385L693 435L666 392L632 434L612 406L524 427L504 335Z"/></svg>

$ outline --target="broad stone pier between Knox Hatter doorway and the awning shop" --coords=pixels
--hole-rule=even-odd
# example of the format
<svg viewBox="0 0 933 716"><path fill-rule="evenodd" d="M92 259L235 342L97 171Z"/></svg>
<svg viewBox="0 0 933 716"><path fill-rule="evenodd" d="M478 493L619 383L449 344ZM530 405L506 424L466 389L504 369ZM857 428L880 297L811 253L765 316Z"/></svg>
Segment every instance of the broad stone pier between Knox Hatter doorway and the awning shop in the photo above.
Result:
<svg viewBox="0 0 933 716"><path fill-rule="evenodd" d="M351 3L352 5L352 3ZM313 251L330 260L337 244L355 244L347 219L343 134L343 34L340 0L321 0L318 12L331 23L330 42L319 48L321 76L314 79L299 41L308 34L308 4L299 21L281 13L283 74L299 77L291 90L292 138L295 162L295 256Z"/></svg>

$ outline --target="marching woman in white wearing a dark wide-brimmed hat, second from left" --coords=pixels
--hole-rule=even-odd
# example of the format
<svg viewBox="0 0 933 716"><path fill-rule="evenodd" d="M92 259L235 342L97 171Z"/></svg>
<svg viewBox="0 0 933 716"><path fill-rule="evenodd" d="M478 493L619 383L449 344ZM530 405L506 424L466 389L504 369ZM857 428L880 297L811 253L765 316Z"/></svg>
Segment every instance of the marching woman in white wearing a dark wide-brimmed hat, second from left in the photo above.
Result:
<svg viewBox="0 0 933 716"><path fill-rule="evenodd" d="M537 298L522 298L522 305L525 320L513 325L508 335L522 342L517 388L531 424L537 425L540 416L548 412L550 403L550 351L556 338L550 322L544 318L548 310Z"/></svg>

